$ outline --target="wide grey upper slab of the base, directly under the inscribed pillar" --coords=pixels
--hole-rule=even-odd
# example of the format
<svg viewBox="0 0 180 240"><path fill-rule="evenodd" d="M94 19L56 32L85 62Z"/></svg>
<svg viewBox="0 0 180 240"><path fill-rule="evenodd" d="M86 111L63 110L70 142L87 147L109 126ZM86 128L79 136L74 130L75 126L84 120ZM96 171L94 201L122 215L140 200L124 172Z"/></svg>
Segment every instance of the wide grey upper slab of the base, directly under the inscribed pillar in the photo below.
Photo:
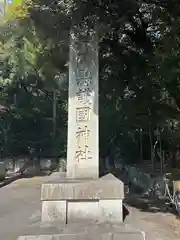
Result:
<svg viewBox="0 0 180 240"><path fill-rule="evenodd" d="M42 184L42 201L124 198L124 185L112 174L97 180L72 180L64 178L64 175L60 174L59 177L57 175L54 177L52 183L50 182Z"/></svg>

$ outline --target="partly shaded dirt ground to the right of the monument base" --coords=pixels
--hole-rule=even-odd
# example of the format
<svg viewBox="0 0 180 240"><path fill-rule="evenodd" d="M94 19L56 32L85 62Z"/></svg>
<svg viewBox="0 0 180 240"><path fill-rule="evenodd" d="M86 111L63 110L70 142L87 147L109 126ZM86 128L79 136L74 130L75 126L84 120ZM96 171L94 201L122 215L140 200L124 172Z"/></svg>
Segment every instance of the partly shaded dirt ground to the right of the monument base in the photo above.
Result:
<svg viewBox="0 0 180 240"><path fill-rule="evenodd" d="M146 240L180 239L180 220L162 201L138 196L126 199L129 215L125 222L146 233Z"/></svg>

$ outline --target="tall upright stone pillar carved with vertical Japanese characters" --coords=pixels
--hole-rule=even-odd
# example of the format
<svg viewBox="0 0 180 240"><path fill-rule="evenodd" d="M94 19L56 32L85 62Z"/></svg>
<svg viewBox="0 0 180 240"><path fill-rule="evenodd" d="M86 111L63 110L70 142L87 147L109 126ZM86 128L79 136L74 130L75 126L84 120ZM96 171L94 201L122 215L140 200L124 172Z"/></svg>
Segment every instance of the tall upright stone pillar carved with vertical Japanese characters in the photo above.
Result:
<svg viewBox="0 0 180 240"><path fill-rule="evenodd" d="M98 41L71 31L67 177L99 177ZM83 36L82 36L83 34Z"/></svg>

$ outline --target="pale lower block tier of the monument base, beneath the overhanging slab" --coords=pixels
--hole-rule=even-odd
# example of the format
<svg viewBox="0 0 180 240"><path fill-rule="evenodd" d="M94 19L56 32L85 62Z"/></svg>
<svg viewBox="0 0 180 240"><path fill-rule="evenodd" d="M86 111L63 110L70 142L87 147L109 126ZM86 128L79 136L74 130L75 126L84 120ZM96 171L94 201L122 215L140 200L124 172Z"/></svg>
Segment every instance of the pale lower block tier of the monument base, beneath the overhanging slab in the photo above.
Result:
<svg viewBox="0 0 180 240"><path fill-rule="evenodd" d="M122 200L43 201L42 222L111 222L123 221Z"/></svg>

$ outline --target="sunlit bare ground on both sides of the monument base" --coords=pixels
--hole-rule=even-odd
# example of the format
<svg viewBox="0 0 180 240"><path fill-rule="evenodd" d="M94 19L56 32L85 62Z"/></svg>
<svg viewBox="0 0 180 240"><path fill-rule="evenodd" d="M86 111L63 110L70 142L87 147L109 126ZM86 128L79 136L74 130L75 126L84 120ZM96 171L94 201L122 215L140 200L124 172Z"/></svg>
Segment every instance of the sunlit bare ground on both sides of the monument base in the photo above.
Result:
<svg viewBox="0 0 180 240"><path fill-rule="evenodd" d="M21 179L0 188L0 239L16 240L28 224L40 220L43 180L43 177ZM180 224L174 215L140 209L131 202L127 204L129 215L125 219L126 224L145 231L147 240L180 239Z"/></svg>

